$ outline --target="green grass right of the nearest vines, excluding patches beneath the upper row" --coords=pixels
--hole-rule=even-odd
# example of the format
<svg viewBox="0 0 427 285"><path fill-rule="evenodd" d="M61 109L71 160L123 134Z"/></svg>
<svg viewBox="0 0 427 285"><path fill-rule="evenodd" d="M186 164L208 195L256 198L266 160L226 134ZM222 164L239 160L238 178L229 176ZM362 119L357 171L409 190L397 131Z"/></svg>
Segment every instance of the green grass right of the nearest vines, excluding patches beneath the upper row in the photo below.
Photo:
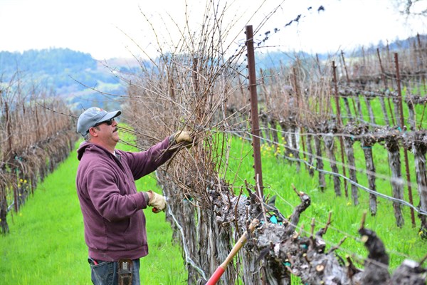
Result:
<svg viewBox="0 0 427 285"><path fill-rule="evenodd" d="M239 169L238 179L235 173L228 172L228 180L233 182L236 179L235 186L243 187L244 179L254 183L253 177L253 157L251 156L251 145L249 142L243 142L240 138L231 140L231 155L229 160L229 169ZM376 145L375 147L382 147ZM364 158L361 147L354 146L356 157L358 157L359 167L364 167ZM384 148L384 147L382 147ZM337 148L339 150L339 148ZM380 148L376 152L381 155L375 155L376 166L381 171L387 171L388 162L386 160L386 152ZM250 155L247 155L247 154ZM283 151L281 151L283 154ZM293 207L300 203L299 198L292 190L292 185L295 185L297 190L306 192L311 197L311 206L302 214L302 219L298 226L304 224L304 229L310 232L310 223L312 218L315 218L315 232L325 226L329 212L332 212L332 224L324 239L327 242L327 247L339 243L343 237L347 240L342 245L342 249L337 252L346 257L349 255L353 259L357 257L367 257L367 250L359 240L358 229L364 211L368 211L365 227L373 229L376 234L384 242L387 252L390 255L390 269L393 271L396 266L399 266L406 257L416 261L421 260L427 252L427 242L421 240L418 236L418 228L411 227L410 211L404 207L405 225L399 229L396 227L392 203L388 200L379 199L378 212L376 217L371 217L369 214L369 195L367 192L359 190L359 205L354 206L351 199L350 188L349 197L344 195L344 183L342 182L342 197L336 197L333 189L333 181L330 175L326 175L325 180L327 189L321 192L317 187L317 174L315 177L310 177L307 169L302 164L300 171L297 172L295 162L291 163L283 159L280 155L275 156L275 152L268 145L261 147L262 165L263 165L263 185L265 195L278 195L276 206L285 216L292 213ZM361 156L362 155L362 156ZM240 160L243 157L243 163ZM301 157L302 158L302 157ZM403 156L402 156L403 159ZM362 161L361 161L362 160ZM384 163L383 160L386 162ZM381 163L380 163L381 162ZM328 169L329 163L325 162L325 169ZM341 172L341 167L339 167ZM384 172L383 172L384 173ZM348 175L348 172L347 172ZM359 173L359 183L367 186L366 175ZM415 177L413 177L415 179ZM377 187L380 192L391 195L391 188L388 180L377 181ZM416 189L413 190L416 193ZM407 196L405 196L407 197ZM414 195L416 201L418 197ZM419 219L416 218L417 227L419 227ZM307 233L306 233L307 234ZM362 267L363 264L357 264Z"/></svg>

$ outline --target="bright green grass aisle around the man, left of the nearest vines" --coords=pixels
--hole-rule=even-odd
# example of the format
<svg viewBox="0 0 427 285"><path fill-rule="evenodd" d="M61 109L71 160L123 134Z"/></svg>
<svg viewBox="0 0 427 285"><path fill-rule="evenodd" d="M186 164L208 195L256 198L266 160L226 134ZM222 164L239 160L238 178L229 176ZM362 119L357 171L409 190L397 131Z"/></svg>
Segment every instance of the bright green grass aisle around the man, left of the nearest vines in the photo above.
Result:
<svg viewBox="0 0 427 285"><path fill-rule="evenodd" d="M0 284L92 284L75 190L76 157L73 151L18 213L9 214L10 233L0 237ZM149 175L137 181L137 188L159 192L156 184ZM147 208L145 214L149 254L141 259L141 284L186 284L184 262L164 212Z"/></svg>

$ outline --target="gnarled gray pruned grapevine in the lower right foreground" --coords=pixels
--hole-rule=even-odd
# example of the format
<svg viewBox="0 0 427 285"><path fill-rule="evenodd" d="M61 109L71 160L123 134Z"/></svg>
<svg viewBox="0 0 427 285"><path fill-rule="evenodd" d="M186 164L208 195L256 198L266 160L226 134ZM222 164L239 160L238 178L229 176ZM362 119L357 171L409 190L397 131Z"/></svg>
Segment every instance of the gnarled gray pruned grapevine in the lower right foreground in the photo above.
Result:
<svg viewBox="0 0 427 285"><path fill-rule="evenodd" d="M255 264L264 264L263 273L268 284L291 284L291 274L299 276L302 284L426 284L427 268L423 267L422 264L427 256L419 262L406 259L392 275L389 273L389 255L386 254L383 242L376 236L375 232L364 227L366 212L362 217L359 234L369 251L369 256L364 261L364 269L362 270L354 266L349 257L344 260L335 252L345 238L336 247L326 251L326 244L322 236L326 234L330 225L331 213L326 226L318 232L314 233L314 219L308 237L302 236L302 227L300 232L295 232L300 214L311 203L307 194L298 192L294 187L301 203L286 219L275 208L274 197L260 202L255 192L248 187L246 189L249 192L248 197L239 197L236 199L234 207L227 207L228 211L233 209L234 214L221 215L221 222L232 222L227 221L227 219L240 217L239 224L242 222L248 224L248 217L260 218L261 221L253 233L251 234L252 231L250 230L247 231L246 250L258 252ZM248 204L250 204L249 210ZM216 206L218 207L219 204ZM226 209L223 210L223 213L226 213ZM246 222L243 219L246 219Z"/></svg>

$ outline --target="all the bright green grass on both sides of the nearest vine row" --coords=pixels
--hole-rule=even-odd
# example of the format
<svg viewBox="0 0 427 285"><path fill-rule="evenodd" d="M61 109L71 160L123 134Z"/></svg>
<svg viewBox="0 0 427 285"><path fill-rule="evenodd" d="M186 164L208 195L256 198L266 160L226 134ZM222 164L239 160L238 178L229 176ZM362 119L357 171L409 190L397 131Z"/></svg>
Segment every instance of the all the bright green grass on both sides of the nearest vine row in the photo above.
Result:
<svg viewBox="0 0 427 285"><path fill-rule="evenodd" d="M374 99L371 103L374 113L381 117L378 100ZM418 106L417 125L421 123L425 128L427 118L421 122L421 110L422 108ZM364 118L369 120L367 114L364 115ZM383 122L380 120L377 123ZM245 179L253 183L251 145L238 138L233 138L231 145L228 180L235 181L237 187L243 186ZM120 148L132 150L127 145L121 145ZM357 167L364 169L363 152L358 142L354 145L354 150ZM373 150L376 171L382 175L389 175L386 150L381 145L374 145ZM283 150L280 153L283 154ZM360 204L355 207L351 198L344 196L344 192L342 197L335 197L330 176L326 176L327 189L320 192L317 188L317 174L310 177L304 165L301 165L300 172L297 172L295 163L276 157L274 151L265 146L262 155L265 193L278 195L277 206L283 214L289 215L293 207L299 203L297 195L292 190L293 184L297 190L307 192L312 199L312 205L302 214L299 226L304 224L305 230L309 230L311 219L315 217L317 231L324 226L328 213L332 212L332 225L324 237L328 247L338 244L344 236L347 236L338 253L342 257L350 255L353 259L367 257L367 250L359 241L357 234L362 213L369 210L369 195L366 192L359 190ZM86 261L87 248L83 237L83 217L75 193L75 172L78 166L75 157L74 151L56 172L38 185L33 197L28 199L19 213L11 212L13 217L9 215L11 232L0 237L0 284L91 284L90 268ZM403 157L402 154L402 162ZM409 159L413 172L413 156L409 155ZM330 165L326 161L325 170L330 170ZM341 172L342 168L339 167L339 170ZM403 174L404 170L402 165ZM236 180L235 172L238 174ZM416 182L414 175L411 176L411 180ZM362 185L367 185L366 175L358 173L358 181ZM391 195L389 180L378 179L376 182L379 192ZM344 183L342 187L343 185ZM160 191L152 175L139 180L137 187L139 190ZM416 188L413 187L414 204L418 204L416 192ZM405 195L407 200L406 192ZM186 284L184 262L179 248L172 244L172 230L165 221L164 213L153 214L148 210L146 215L149 255L141 259L141 283ZM379 199L376 217L369 214L367 216L366 227L373 229L383 240L391 257L391 270L401 264L406 257L420 260L427 252L427 243L418 237L418 218L416 218L417 227L411 227L407 207L404 208L404 218L405 226L397 228L392 204L384 199ZM297 281L294 283L297 284Z"/></svg>

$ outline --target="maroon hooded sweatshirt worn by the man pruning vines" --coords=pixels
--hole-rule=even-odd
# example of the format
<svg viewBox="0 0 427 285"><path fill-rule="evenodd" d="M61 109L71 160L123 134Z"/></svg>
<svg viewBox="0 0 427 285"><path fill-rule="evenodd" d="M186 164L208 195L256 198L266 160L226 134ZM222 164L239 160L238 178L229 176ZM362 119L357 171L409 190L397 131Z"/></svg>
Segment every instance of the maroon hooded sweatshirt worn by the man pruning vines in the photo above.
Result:
<svg viewBox="0 0 427 285"><path fill-rule="evenodd" d="M76 186L89 257L102 261L138 259L148 254L145 216L148 201L135 180L157 170L173 152L169 138L144 152L115 150L84 142L78 149Z"/></svg>

